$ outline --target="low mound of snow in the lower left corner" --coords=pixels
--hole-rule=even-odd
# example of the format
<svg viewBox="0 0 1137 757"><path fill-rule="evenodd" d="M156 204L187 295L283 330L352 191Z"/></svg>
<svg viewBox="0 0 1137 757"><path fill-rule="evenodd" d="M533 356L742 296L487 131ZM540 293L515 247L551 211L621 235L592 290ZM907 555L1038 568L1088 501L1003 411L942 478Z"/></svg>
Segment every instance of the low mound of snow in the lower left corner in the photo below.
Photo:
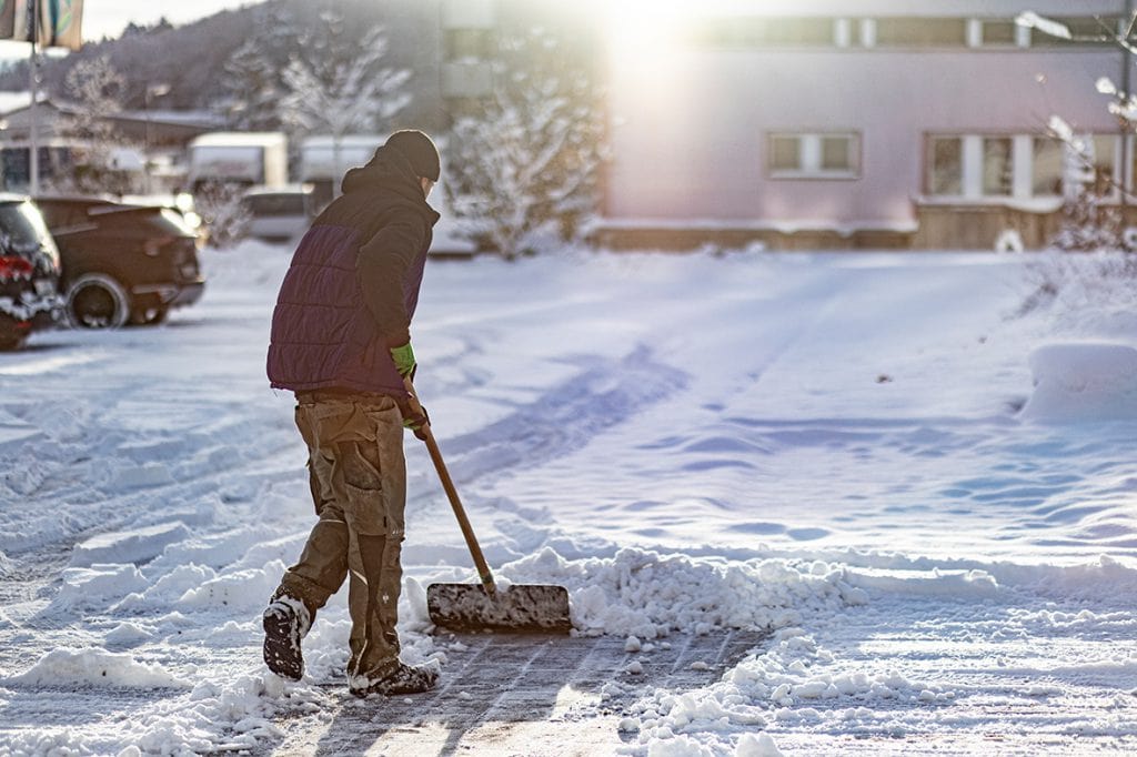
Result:
<svg viewBox="0 0 1137 757"><path fill-rule="evenodd" d="M6 679L3 684L128 689L184 689L191 685L160 665L140 663L130 655L102 649L56 649L41 657L26 673Z"/></svg>

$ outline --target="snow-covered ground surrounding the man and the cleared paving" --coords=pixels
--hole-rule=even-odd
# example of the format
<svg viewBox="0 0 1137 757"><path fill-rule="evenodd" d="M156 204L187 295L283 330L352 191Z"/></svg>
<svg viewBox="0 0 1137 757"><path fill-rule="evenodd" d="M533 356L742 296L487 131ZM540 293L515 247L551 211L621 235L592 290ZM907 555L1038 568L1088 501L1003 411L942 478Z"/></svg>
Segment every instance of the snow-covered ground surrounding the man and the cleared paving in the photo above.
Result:
<svg viewBox="0 0 1137 757"><path fill-rule="evenodd" d="M271 748L338 696L342 597L308 679L259 659L314 517L263 368L289 252L206 251L168 324L0 356L0 754ZM1012 317L1028 259L429 266L417 384L500 577L567 585L630 651L773 632L713 685L645 688L625 751L1137 749L1134 299ZM407 454L404 656L445 665L423 588L472 572Z"/></svg>

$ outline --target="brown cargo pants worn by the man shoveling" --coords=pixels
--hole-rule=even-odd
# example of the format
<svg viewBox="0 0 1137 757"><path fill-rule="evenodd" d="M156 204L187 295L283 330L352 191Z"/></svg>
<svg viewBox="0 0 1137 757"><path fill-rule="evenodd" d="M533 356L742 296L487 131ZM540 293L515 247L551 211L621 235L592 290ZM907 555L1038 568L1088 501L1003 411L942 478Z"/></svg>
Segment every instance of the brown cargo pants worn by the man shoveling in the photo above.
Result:
<svg viewBox="0 0 1137 757"><path fill-rule="evenodd" d="M296 425L308 444L319 521L276 596L302 600L315 617L350 575L349 676L384 677L399 657L398 621L407 471L402 415L376 394L297 396Z"/></svg>

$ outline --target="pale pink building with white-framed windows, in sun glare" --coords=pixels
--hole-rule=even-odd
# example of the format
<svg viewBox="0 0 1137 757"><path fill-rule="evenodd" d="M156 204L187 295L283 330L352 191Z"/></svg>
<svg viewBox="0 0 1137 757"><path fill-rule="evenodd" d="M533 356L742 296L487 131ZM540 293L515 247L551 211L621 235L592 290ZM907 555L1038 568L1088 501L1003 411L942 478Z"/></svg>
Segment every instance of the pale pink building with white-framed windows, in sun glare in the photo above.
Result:
<svg viewBox="0 0 1137 757"><path fill-rule="evenodd" d="M1135 190L1132 135L1095 83L1124 0L711 0L611 39L601 238L775 249L1028 247L1057 223L1064 145ZM1060 40L1015 24L1061 20ZM1134 198L1120 190L1118 202Z"/></svg>

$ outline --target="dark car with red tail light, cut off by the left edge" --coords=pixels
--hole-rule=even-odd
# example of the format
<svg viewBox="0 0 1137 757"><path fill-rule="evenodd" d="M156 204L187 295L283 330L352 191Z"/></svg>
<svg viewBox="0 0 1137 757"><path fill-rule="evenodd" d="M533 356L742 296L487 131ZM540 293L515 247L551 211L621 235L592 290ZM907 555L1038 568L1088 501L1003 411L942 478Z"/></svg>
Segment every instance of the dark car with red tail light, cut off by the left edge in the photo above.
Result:
<svg viewBox="0 0 1137 757"><path fill-rule="evenodd" d="M60 317L59 251L27 198L0 194L0 349Z"/></svg>

